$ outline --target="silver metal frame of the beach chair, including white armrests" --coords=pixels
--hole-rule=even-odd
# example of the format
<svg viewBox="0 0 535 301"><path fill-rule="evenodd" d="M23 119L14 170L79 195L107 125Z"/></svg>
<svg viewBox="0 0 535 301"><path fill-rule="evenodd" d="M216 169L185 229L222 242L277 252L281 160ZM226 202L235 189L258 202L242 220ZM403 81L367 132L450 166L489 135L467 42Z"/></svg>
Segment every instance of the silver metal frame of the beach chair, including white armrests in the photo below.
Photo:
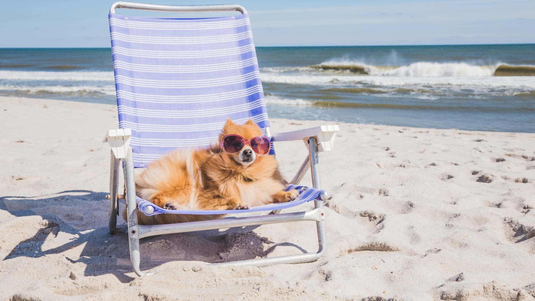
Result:
<svg viewBox="0 0 535 301"><path fill-rule="evenodd" d="M172 6L172 5L155 5L143 3L129 3L116 2L111 6L110 12L114 13L115 9L141 9L141 10L155 10L155 11L240 11L246 13L246 10L240 5L200 5L200 6ZM120 130L119 130L120 131ZM118 131L118 132L119 132ZM124 133L128 131L124 129ZM312 184L314 188L321 189L319 176L319 161L318 161L318 146L319 151L330 151L334 142L334 134L338 131L338 126L314 127L307 130L300 130L287 133L273 134L271 136L269 127L266 127L266 136L273 138L273 141L291 141L304 140L309 149L309 155L304 160L299 171L292 180L292 184L299 184L306 172L311 169ZM129 131L128 131L129 132ZM117 134L106 136L105 141L109 141L113 137L113 141L109 142L112 146L111 162L110 162L110 211L109 211L109 230L110 234L116 234L119 230L117 228L118 216L118 189L119 189L119 165L124 160L124 179L126 183L126 193L124 199L127 207L127 234L129 241L130 257L134 272L139 276L146 276L154 272L141 272L140 270L140 245L139 240L144 237L172 234L190 231L211 230L232 227L244 227L248 225L273 224L295 221L315 221L318 236L318 251L315 253L302 253L294 255L285 255L279 257L259 258L250 260L241 260L233 262L222 262L219 264L212 264L218 266L268 266L274 264L297 264L301 262L315 261L320 258L325 252L327 245L326 231L325 231L325 217L323 203L320 200L314 201L314 209L280 214L280 210L271 212L270 214L258 216L236 217L232 219L219 219L209 221L187 222L177 224L162 224L162 225L140 225L137 223L136 202L135 202L135 179L134 179L134 160L132 148L128 146L129 135ZM116 138L118 140L116 140ZM124 144L123 140L124 139ZM128 139L128 140L127 140ZM111 140L110 140L111 141ZM119 141L119 142L117 142ZM117 145L116 145L117 144ZM119 145L120 144L120 145ZM118 151L119 150L119 151Z"/></svg>

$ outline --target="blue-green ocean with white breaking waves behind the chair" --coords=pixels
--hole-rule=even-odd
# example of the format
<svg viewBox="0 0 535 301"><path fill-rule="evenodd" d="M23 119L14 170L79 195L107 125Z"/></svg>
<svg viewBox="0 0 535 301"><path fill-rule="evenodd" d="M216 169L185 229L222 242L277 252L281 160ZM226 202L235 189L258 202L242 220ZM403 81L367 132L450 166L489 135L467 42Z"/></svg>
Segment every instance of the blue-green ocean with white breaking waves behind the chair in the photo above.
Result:
<svg viewBox="0 0 535 301"><path fill-rule="evenodd" d="M256 51L272 118L535 132L535 44ZM0 95L114 104L111 49L0 49Z"/></svg>

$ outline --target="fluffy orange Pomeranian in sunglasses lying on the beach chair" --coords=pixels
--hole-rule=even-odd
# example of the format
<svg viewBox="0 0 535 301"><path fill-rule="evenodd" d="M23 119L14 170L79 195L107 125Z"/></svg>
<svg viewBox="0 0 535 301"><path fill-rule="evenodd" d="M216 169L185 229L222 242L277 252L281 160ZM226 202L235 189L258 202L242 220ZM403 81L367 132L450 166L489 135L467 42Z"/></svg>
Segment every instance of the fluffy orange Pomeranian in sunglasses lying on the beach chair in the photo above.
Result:
<svg viewBox="0 0 535 301"><path fill-rule="evenodd" d="M151 162L135 177L136 194L170 210L248 209L297 198L297 190L283 191L287 182L280 175L275 157L265 151L269 151L269 140L266 146L262 130L252 119L239 125L228 118L218 142L217 147L177 149ZM192 222L221 216L146 216L137 212L139 224Z"/></svg>

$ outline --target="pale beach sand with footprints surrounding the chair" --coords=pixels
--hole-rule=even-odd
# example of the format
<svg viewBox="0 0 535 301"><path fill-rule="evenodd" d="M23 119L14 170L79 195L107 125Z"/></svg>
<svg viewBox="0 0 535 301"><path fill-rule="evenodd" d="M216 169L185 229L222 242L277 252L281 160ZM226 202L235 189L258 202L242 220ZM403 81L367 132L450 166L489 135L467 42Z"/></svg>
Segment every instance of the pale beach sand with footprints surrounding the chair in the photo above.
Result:
<svg viewBox="0 0 535 301"><path fill-rule="evenodd" d="M135 277L107 228L116 126L114 106L0 97L0 299L535 300L535 134L340 123L319 154L322 259L207 265L317 250L314 222L262 225L143 239L141 268L160 272ZM276 150L292 178L303 142Z"/></svg>

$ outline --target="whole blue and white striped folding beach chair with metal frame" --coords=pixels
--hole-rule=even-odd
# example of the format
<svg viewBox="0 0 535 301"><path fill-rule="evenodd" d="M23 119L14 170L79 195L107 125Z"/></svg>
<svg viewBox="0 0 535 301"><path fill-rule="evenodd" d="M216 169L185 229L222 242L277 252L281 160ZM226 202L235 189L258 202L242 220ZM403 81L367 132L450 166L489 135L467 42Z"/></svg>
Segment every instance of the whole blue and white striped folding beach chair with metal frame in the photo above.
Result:
<svg viewBox="0 0 535 301"><path fill-rule="evenodd" d="M118 8L167 12L239 11L217 18L146 18L115 13ZM139 239L179 232L244 227L295 221L316 221L319 249L280 257L259 258L217 265L295 264L317 260L325 252L326 236L320 190L318 152L332 149L337 125L271 133L258 71L249 17L240 5L170 6L117 2L111 6L110 33L117 90L119 129L110 130L111 234L118 232L118 199L126 200L127 234L132 266L140 270ZM209 146L217 141L227 117L236 123L253 119L272 141L303 140L309 155L288 189L300 189L299 198L246 210L165 210L135 195L134 168L146 167L172 149ZM271 154L274 154L273 147ZM125 193L119 195L119 165L124 164ZM311 168L314 188L295 186ZM314 201L312 210L280 213L281 209ZM163 224L137 224L136 210L154 214L244 214L218 220Z"/></svg>

